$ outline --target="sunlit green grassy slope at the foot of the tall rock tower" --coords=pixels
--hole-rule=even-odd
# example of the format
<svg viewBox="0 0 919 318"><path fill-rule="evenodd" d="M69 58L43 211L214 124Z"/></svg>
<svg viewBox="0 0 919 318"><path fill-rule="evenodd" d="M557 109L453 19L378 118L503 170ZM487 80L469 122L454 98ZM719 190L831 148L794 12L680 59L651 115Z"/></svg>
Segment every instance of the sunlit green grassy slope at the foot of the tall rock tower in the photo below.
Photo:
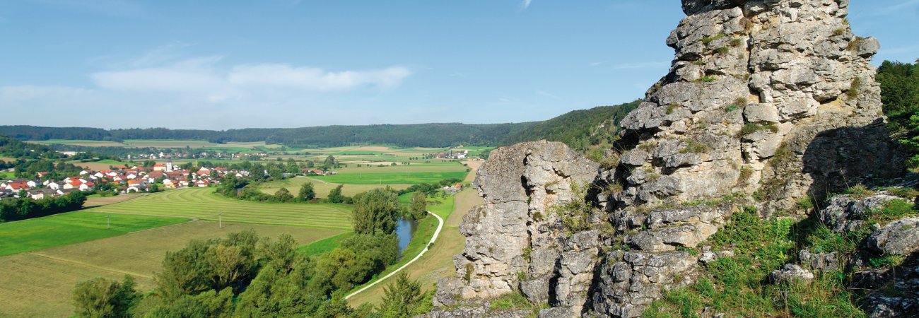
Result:
<svg viewBox="0 0 919 318"><path fill-rule="evenodd" d="M709 263L687 287L654 301L644 317L696 317L705 307L728 316L864 317L840 272L815 272L813 282L769 284L774 269L793 261L811 226L790 219L761 220L755 210L737 211L732 222L705 244L736 254Z"/></svg>

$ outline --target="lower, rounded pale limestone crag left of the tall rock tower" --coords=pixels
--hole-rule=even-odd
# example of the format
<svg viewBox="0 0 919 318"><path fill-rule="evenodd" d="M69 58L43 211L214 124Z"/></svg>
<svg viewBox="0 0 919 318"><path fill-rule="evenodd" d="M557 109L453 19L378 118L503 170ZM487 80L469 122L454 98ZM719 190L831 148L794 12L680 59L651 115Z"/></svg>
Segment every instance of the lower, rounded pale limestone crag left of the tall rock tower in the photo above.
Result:
<svg viewBox="0 0 919 318"><path fill-rule="evenodd" d="M465 249L454 257L459 278L438 282L435 303L520 289L533 301L552 295L559 306L580 312L594 277L598 232L570 233L562 224L566 215L551 207L583 201L598 168L561 142L495 149L473 183L485 205L471 210L459 228L466 236Z"/></svg>

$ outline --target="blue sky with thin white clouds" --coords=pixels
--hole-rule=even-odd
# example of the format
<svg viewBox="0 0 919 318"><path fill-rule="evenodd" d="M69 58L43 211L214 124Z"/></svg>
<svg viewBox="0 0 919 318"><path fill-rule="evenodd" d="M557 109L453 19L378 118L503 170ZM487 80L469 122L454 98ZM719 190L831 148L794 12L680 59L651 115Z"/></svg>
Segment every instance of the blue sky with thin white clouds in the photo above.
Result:
<svg viewBox="0 0 919 318"><path fill-rule="evenodd" d="M641 98L663 0L6 0L0 125L226 130L544 120ZM874 63L919 58L919 0L853 0Z"/></svg>

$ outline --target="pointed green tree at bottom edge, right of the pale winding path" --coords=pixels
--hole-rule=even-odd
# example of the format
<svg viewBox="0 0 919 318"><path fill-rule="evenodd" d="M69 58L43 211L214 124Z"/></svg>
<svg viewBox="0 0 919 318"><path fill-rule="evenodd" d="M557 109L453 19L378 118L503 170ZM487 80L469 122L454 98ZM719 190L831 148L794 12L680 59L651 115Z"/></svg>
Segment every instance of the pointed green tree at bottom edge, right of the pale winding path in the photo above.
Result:
<svg viewBox="0 0 919 318"><path fill-rule="evenodd" d="M419 309L425 308L422 306L425 296L421 292L421 283L408 278L405 272L384 287L383 293L378 310L384 318L405 318L425 313L419 312Z"/></svg>

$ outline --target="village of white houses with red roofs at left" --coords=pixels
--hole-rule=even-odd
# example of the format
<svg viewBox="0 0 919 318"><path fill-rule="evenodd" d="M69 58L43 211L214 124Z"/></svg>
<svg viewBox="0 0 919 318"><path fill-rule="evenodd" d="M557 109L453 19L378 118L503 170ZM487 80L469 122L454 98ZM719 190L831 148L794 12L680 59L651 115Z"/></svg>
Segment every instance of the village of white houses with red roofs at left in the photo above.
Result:
<svg viewBox="0 0 919 318"><path fill-rule="evenodd" d="M25 191L32 199L46 199L66 195L73 191L90 191L103 184L108 184L122 193L150 191L155 183L162 183L166 188L208 187L220 183L220 178L227 174L237 177L249 176L248 171L228 171L226 168L199 168L197 171L176 169L173 164L156 164L153 166L119 167L114 170L80 171L79 176L69 176L62 180L44 180L47 172L38 173L36 180L16 179L0 182L0 199L19 198Z"/></svg>

